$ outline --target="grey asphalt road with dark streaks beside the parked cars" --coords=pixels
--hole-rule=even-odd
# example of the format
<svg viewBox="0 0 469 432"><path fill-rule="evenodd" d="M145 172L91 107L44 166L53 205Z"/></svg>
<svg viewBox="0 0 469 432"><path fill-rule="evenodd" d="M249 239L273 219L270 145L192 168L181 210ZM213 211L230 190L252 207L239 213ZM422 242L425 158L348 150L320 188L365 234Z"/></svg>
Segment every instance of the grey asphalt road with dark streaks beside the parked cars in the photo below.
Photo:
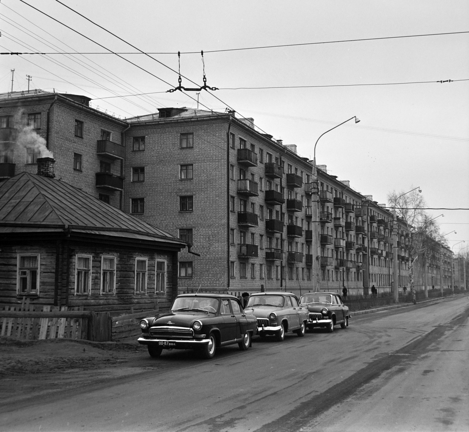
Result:
<svg viewBox="0 0 469 432"><path fill-rule="evenodd" d="M28 401L0 430L468 431L468 316L464 295L210 361L164 351L154 363L171 367Z"/></svg>

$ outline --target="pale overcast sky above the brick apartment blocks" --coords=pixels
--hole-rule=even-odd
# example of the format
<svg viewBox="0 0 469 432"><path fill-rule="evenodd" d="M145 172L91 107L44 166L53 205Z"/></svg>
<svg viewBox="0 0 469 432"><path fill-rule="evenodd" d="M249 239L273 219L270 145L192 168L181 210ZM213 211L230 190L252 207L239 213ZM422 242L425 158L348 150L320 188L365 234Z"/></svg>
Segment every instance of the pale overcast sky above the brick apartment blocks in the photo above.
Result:
<svg viewBox="0 0 469 432"><path fill-rule="evenodd" d="M115 52L136 50L54 0L32 6ZM227 90L233 87L318 86L469 79L469 33L338 42L209 53L211 50L469 31L464 1L70 1L63 0L172 69L202 84L206 107L234 108L298 153L313 157L319 135L353 121L318 142L318 164L386 203L388 192L420 186L429 208L469 208L469 81L380 86ZM2 52L105 52L19 0L0 4ZM27 21L29 20L29 21ZM47 34L47 32L49 34ZM54 39L57 38L57 39ZM65 45L67 44L67 45ZM172 87L177 74L142 55L123 54ZM75 59L75 62L72 60ZM195 92L170 88L113 54L2 55L0 88L85 94L93 107L136 116L161 107L195 108ZM55 62L55 63L54 63ZM78 62L78 63L77 63ZM65 66L67 69L62 67ZM43 68L43 69L41 69ZM194 87L182 78L182 85ZM97 99L114 95L146 96ZM223 102L215 99L217 96ZM203 108L200 105L200 108ZM469 211L429 210L454 252L469 246Z"/></svg>

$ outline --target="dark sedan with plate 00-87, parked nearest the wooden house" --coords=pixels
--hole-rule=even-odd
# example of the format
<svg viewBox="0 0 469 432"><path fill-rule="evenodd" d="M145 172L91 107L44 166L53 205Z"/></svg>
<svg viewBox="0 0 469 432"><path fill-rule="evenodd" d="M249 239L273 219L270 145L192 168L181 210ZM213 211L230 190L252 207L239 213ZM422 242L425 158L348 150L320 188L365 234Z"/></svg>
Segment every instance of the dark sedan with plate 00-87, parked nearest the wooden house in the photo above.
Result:
<svg viewBox="0 0 469 432"><path fill-rule="evenodd" d="M212 358L216 347L237 343L242 350L257 332L256 317L246 314L240 301L228 294L181 294L170 312L140 321L138 342L148 346L152 357L163 349L199 349Z"/></svg>

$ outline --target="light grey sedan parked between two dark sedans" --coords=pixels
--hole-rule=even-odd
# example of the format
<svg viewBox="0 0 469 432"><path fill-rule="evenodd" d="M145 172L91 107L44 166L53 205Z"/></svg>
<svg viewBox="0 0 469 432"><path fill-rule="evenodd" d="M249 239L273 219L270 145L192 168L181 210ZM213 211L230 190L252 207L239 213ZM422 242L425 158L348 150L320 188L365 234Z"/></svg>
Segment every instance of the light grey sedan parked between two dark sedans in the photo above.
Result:
<svg viewBox="0 0 469 432"><path fill-rule="evenodd" d="M257 318L257 333L261 338L274 335L281 341L286 332L296 332L298 336L306 332L308 308L300 306L293 293L251 294L245 310Z"/></svg>

